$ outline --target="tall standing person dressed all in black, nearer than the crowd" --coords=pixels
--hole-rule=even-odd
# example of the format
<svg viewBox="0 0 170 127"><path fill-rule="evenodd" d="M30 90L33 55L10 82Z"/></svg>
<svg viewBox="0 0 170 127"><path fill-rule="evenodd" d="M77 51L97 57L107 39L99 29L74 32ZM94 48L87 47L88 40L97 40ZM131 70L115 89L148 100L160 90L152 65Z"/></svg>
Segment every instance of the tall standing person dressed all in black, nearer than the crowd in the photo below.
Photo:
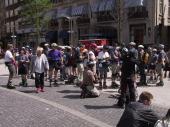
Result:
<svg viewBox="0 0 170 127"><path fill-rule="evenodd" d="M122 49L121 60L120 97L117 106L124 108L125 104L136 101L135 65L127 48Z"/></svg>

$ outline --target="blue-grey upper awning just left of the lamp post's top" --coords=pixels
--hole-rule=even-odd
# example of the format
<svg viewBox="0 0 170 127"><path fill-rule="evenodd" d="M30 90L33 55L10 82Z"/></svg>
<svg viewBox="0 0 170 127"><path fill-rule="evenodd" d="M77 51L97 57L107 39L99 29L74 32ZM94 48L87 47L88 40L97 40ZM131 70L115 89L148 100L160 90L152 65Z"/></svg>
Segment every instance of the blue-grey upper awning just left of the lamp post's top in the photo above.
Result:
<svg viewBox="0 0 170 127"><path fill-rule="evenodd" d="M62 18L71 15L71 8L62 8L57 10L57 18Z"/></svg>

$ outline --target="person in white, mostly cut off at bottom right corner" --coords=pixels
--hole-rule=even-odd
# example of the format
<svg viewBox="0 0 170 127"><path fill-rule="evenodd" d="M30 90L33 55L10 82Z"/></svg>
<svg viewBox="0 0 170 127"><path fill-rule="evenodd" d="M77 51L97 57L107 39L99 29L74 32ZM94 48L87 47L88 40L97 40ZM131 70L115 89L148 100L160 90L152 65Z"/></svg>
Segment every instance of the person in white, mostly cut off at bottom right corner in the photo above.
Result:
<svg viewBox="0 0 170 127"><path fill-rule="evenodd" d="M156 122L155 127L170 127L170 109L168 109L165 117Z"/></svg>

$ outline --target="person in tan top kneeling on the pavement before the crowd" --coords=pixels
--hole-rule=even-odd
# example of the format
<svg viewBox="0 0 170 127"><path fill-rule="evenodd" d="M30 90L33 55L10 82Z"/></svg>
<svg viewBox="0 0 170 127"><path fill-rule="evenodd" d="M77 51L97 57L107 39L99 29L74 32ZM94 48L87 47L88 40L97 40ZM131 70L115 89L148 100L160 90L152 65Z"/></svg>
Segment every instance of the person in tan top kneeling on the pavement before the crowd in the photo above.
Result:
<svg viewBox="0 0 170 127"><path fill-rule="evenodd" d="M99 97L100 92L94 85L95 74L93 73L93 62L88 62L85 71L83 72L82 92L80 98Z"/></svg>

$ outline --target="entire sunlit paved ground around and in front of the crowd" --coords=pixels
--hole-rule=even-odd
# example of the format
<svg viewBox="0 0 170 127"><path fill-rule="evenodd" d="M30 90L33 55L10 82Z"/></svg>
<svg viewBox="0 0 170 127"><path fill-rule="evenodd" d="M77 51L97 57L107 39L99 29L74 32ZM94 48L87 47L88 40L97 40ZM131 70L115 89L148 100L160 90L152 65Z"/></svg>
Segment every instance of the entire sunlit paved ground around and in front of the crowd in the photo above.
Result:
<svg viewBox="0 0 170 127"><path fill-rule="evenodd" d="M5 87L7 75L7 68L1 64L0 86ZM115 127L123 113L122 109L114 106L117 100L113 95L117 94L117 90L104 90L99 98L80 99L80 88L74 85L61 84L58 87L49 87L49 82L45 82L46 92L37 94L33 80L28 80L28 87L19 87L20 81L19 78L13 81L17 86L16 91L38 99L0 89L0 127L95 127L97 125L92 118L99 123ZM108 83L111 83L109 79ZM163 116L170 107L169 89L169 81L166 79L164 87L154 85L139 87L138 92L152 92L155 97L153 108ZM68 107L72 112L44 103L41 99L60 104L61 107ZM83 115L87 118L86 116L82 118Z"/></svg>

